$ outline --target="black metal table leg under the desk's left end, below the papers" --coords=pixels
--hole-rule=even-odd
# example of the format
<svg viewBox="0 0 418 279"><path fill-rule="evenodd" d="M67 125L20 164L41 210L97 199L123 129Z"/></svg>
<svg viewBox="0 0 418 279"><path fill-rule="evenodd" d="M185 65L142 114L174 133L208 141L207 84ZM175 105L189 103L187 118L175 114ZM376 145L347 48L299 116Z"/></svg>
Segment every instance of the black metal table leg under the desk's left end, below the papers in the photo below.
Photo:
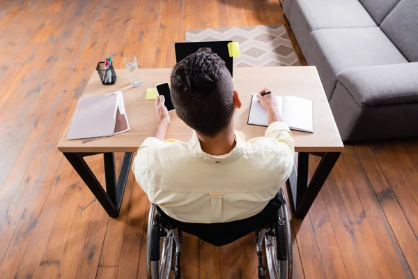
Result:
<svg viewBox="0 0 418 279"><path fill-rule="evenodd" d="M116 172L114 163L114 153L103 153L104 157L104 176L106 179L106 190L102 187L98 179L95 177L90 167L88 167L83 157L96 155L100 153L63 153L68 162L74 167L75 171L83 179L84 183L91 190L96 199L103 206L104 210L110 217L116 218L119 216L123 193L127 176L130 171L133 153L125 153L119 172L118 181L116 183Z"/></svg>

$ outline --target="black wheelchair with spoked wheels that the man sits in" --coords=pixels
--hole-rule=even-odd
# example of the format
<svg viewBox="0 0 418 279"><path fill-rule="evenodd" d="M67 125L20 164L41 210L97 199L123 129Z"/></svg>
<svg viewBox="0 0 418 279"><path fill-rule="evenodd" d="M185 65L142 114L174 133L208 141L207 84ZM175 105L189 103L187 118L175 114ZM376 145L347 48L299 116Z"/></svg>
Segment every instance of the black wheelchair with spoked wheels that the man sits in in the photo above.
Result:
<svg viewBox="0 0 418 279"><path fill-rule="evenodd" d="M270 209L267 209L268 207ZM254 242L256 243L258 257L258 278L264 279L268 273L272 279L291 279L291 224L290 213L283 190L280 189L274 198L274 203L270 201L263 211L265 211L264 216L268 218L265 218L261 223L258 222L258 220L262 219L259 218L261 216L259 215L261 213L259 213L251 218L230 223L192 224L174 220L167 216L158 206L151 204L146 238L146 272L148 279L166 279L171 275L173 279L180 279L183 232L193 234L215 246L226 245L254 232ZM246 231L247 228L251 229L251 231ZM231 232L237 229L241 230L238 234L231 234ZM213 236L214 232L217 232L217 235ZM263 247L267 267L263 264Z"/></svg>

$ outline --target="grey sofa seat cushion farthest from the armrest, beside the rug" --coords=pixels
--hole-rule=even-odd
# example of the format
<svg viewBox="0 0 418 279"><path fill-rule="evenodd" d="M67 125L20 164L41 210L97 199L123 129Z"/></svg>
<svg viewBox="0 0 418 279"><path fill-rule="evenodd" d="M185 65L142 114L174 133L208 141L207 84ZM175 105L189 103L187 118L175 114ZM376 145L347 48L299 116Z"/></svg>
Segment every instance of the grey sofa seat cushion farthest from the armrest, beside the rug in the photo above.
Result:
<svg viewBox="0 0 418 279"><path fill-rule="evenodd" d="M376 27L358 0L293 0L288 19L302 52L307 52L311 45L311 31Z"/></svg>

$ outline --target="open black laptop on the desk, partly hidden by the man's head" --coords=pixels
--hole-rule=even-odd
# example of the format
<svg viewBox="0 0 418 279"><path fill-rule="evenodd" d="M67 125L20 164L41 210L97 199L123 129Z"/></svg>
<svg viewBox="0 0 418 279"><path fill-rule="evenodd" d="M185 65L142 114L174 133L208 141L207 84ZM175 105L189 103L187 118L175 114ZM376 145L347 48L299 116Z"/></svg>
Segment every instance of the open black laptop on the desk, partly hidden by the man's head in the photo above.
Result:
<svg viewBox="0 0 418 279"><path fill-rule="evenodd" d="M216 53L225 61L226 68L232 75L233 69L233 57L229 57L228 44L232 40L219 40L214 42L185 42L175 43L174 49L176 50L176 63L183 60L186 56L197 52L201 47L209 47L213 53Z"/></svg>

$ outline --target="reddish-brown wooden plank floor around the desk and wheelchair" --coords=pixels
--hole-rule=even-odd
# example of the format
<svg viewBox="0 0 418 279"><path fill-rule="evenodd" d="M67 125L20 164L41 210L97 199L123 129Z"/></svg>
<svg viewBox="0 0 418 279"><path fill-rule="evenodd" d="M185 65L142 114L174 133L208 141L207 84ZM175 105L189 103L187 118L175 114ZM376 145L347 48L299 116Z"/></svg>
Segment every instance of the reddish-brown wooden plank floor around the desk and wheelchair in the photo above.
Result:
<svg viewBox="0 0 418 279"><path fill-rule="evenodd" d="M0 0L0 278L145 278L146 195L131 175L109 218L56 150L88 77L109 55L171 67L186 29L279 23L278 0ZM417 171L418 141L347 146L293 220L294 278L418 278ZM252 236L185 236L182 259L184 278L257 274Z"/></svg>

